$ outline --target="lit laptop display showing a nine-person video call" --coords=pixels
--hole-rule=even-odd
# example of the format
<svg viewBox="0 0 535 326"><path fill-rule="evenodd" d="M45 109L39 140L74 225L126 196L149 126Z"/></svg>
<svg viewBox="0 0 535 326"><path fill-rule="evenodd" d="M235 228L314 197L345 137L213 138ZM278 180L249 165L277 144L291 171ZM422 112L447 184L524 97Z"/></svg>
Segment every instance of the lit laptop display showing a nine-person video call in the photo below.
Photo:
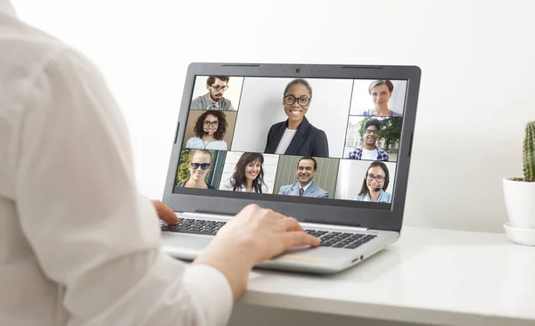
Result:
<svg viewBox="0 0 535 326"><path fill-rule="evenodd" d="M173 192L391 209L406 93L407 80L195 76Z"/></svg>

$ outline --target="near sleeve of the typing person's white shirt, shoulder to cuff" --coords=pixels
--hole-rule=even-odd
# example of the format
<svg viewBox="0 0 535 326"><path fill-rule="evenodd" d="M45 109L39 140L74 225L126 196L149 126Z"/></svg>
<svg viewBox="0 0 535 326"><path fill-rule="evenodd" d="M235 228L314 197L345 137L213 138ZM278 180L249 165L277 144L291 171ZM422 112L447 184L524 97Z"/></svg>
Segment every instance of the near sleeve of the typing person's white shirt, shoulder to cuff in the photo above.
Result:
<svg viewBox="0 0 535 326"><path fill-rule="evenodd" d="M69 325L224 325L225 276L160 250L157 214L136 192L128 130L103 77L63 50L24 99L15 200Z"/></svg>

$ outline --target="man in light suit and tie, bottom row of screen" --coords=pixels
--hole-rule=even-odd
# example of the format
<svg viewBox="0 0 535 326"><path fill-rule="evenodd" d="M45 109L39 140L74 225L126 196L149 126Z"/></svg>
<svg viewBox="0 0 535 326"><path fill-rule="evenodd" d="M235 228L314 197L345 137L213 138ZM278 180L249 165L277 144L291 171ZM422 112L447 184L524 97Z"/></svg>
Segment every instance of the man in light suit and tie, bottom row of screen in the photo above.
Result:
<svg viewBox="0 0 535 326"><path fill-rule="evenodd" d="M297 163L297 170L295 172L298 182L282 186L279 195L328 198L329 193L319 188L312 181L316 173L316 159L312 157L301 158Z"/></svg>

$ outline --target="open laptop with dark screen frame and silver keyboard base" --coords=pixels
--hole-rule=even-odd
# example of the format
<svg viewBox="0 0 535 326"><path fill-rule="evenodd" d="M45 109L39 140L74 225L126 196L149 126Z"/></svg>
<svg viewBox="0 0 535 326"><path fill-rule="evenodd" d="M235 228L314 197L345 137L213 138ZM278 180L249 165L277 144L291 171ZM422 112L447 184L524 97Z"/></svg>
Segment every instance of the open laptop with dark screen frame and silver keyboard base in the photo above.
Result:
<svg viewBox="0 0 535 326"><path fill-rule="evenodd" d="M185 261L251 203L298 219L319 247L259 265L338 273L399 239L416 66L190 64L172 140L164 252Z"/></svg>

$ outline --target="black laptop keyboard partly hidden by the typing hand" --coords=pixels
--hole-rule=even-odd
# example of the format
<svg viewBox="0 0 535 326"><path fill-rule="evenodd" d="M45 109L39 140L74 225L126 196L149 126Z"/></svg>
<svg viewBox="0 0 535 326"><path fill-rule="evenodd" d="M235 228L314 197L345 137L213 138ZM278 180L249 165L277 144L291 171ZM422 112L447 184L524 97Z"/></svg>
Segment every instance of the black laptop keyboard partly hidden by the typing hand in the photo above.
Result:
<svg viewBox="0 0 535 326"><path fill-rule="evenodd" d="M216 235L226 222L198 220L193 218L181 218L178 224L167 224L160 221L161 231L181 232L191 234ZM375 235L351 232L328 232L305 230L321 240L321 247L333 247L343 249L356 249L369 240L374 240Z"/></svg>

